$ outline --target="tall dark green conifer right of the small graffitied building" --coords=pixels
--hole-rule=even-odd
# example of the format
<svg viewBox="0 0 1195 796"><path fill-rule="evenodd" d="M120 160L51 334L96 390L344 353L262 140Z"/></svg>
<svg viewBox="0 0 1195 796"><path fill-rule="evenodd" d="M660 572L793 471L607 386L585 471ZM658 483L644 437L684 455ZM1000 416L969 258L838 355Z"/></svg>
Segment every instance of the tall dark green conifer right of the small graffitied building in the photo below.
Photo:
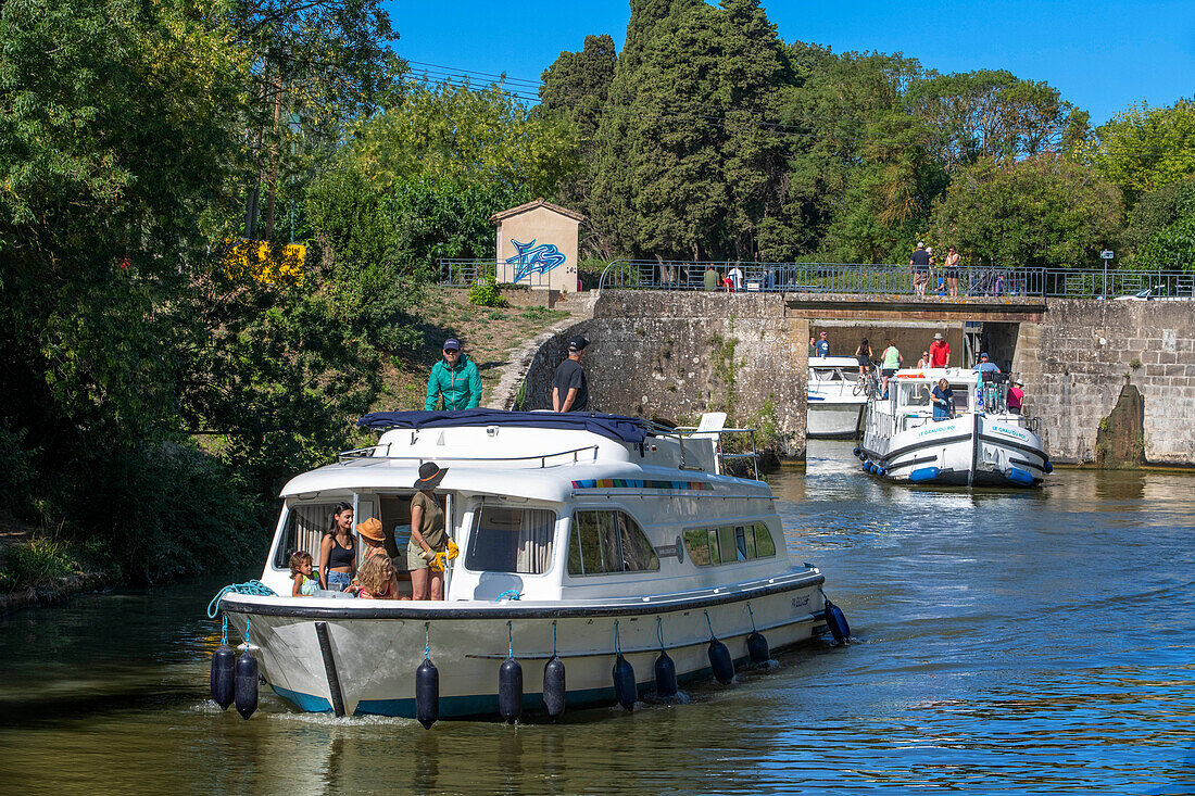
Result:
<svg viewBox="0 0 1195 796"><path fill-rule="evenodd" d="M661 258L754 258L773 246L785 143L771 128L790 79L754 0L632 4L598 133L603 234Z"/></svg>

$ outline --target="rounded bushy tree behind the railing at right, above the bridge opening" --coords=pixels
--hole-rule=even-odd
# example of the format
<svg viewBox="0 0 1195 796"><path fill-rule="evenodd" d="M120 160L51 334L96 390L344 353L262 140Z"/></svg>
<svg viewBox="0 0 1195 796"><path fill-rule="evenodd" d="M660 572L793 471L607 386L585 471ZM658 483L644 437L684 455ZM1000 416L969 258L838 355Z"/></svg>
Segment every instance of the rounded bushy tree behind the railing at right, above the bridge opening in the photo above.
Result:
<svg viewBox="0 0 1195 796"><path fill-rule="evenodd" d="M1080 268L1120 229L1120 191L1090 169L1043 153L985 158L960 171L937 206L931 238L964 259L1001 267Z"/></svg>

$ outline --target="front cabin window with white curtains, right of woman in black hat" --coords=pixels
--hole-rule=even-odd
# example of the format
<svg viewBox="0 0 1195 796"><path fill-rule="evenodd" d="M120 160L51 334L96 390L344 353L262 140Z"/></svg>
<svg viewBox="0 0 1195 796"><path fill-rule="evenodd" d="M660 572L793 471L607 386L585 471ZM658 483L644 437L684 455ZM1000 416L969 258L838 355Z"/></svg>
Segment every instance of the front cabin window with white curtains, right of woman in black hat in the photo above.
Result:
<svg viewBox="0 0 1195 796"><path fill-rule="evenodd" d="M551 568L553 512L483 506L476 518L468 534L466 569L543 575Z"/></svg>

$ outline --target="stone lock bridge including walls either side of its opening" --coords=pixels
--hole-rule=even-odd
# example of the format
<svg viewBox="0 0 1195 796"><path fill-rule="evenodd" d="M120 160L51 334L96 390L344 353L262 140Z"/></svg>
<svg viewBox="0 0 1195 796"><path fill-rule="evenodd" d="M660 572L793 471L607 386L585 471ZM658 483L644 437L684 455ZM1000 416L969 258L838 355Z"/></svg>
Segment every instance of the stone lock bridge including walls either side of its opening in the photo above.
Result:
<svg viewBox="0 0 1195 796"><path fill-rule="evenodd" d="M891 338L909 365L936 331L950 343L951 365L986 350L1022 376L1025 410L1042 418L1055 461L1096 463L1116 430L1119 447L1144 451L1150 464L1195 465L1191 301L606 289L592 319L537 353L525 405L551 405L564 341L581 332L592 341L584 365L594 410L682 424L729 411L799 459L809 338L823 330L832 354L853 354L860 337L878 354Z"/></svg>

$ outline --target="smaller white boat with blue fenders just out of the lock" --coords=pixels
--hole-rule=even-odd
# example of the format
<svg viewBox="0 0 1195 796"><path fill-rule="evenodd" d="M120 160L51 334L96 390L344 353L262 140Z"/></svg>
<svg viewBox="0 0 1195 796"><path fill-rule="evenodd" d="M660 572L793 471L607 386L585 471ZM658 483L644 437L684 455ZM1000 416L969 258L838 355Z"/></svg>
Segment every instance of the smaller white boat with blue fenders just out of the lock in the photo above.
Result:
<svg viewBox="0 0 1195 796"><path fill-rule="evenodd" d="M863 469L897 483L1036 486L1053 465L1036 418L1010 412L1007 375L958 368L897 371L888 396L868 402ZM932 390L946 379L949 416L934 420Z"/></svg>

